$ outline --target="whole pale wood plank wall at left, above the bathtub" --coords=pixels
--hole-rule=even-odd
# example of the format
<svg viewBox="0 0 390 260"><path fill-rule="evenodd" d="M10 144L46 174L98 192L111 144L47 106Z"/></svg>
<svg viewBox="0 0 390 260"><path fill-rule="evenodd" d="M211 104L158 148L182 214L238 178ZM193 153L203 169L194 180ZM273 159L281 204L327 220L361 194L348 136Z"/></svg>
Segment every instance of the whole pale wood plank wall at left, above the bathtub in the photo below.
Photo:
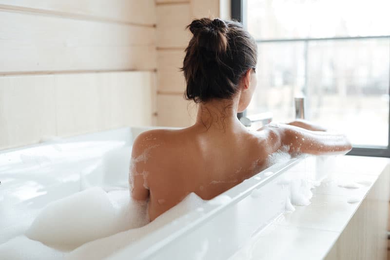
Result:
<svg viewBox="0 0 390 260"><path fill-rule="evenodd" d="M0 0L0 149L156 124L154 0Z"/></svg>

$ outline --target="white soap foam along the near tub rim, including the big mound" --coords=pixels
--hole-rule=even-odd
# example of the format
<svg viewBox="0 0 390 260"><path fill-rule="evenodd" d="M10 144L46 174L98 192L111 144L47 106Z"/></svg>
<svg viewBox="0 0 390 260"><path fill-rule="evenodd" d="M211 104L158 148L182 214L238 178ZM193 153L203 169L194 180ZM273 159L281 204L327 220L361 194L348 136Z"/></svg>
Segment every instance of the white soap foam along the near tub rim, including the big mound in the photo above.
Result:
<svg viewBox="0 0 390 260"><path fill-rule="evenodd" d="M231 200L226 195L215 199L210 202ZM206 203L191 193L149 223L146 202L133 201L128 190L106 193L90 188L48 204L27 231L31 239L20 236L1 244L0 258L102 259L193 210L203 209Z"/></svg>

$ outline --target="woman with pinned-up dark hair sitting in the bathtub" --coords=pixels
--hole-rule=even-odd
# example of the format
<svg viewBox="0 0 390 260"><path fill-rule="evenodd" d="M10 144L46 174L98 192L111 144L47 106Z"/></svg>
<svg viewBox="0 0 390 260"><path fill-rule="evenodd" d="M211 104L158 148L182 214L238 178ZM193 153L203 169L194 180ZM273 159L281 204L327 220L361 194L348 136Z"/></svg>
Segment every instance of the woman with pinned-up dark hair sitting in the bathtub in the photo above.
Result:
<svg viewBox="0 0 390 260"><path fill-rule="evenodd" d="M318 130L305 121L246 129L237 112L256 88L256 43L242 26L221 19L196 19L182 71L186 97L199 104L196 122L180 130L151 130L134 142L131 194L149 199L149 218L195 192L209 200L270 164L276 151L346 153L344 135Z"/></svg>

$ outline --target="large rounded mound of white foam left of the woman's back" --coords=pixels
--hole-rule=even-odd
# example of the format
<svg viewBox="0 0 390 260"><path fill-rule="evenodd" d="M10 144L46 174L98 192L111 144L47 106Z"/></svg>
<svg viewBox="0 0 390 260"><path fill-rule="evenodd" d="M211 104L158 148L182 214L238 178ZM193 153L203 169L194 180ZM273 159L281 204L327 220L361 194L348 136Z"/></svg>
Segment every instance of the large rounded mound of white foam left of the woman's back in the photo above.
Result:
<svg viewBox="0 0 390 260"><path fill-rule="evenodd" d="M146 203L127 203L123 190L111 200L100 187L90 188L47 204L27 230L28 238L59 249L74 249L88 241L106 237L147 223Z"/></svg>

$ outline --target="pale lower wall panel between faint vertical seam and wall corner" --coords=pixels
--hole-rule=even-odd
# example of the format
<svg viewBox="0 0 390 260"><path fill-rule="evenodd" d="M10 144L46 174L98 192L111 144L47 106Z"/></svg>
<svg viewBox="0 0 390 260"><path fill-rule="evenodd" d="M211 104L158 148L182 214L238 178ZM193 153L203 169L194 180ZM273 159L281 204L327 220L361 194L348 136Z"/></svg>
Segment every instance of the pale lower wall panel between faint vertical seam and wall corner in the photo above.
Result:
<svg viewBox="0 0 390 260"><path fill-rule="evenodd" d="M56 75L58 135L151 126L151 77L146 72Z"/></svg>

